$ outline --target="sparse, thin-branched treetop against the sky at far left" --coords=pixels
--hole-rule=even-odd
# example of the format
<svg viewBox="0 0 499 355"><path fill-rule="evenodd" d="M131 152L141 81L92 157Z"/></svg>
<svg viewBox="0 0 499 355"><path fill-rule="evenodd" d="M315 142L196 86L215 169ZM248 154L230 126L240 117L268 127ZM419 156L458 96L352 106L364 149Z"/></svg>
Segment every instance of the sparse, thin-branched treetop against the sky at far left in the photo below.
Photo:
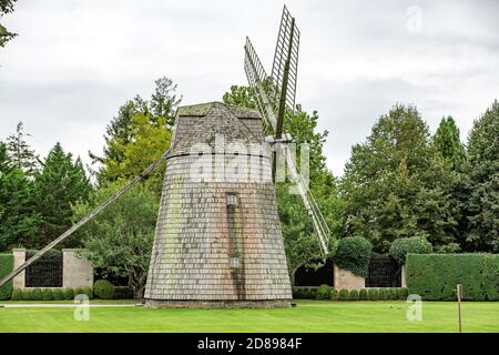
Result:
<svg viewBox="0 0 499 355"><path fill-rule="evenodd" d="M31 136L31 134L23 131L24 125L22 122L19 122L16 133L7 138L7 150L16 168L22 170L27 175L33 176L38 171L38 156L34 155L34 151L26 142L26 138Z"/></svg>

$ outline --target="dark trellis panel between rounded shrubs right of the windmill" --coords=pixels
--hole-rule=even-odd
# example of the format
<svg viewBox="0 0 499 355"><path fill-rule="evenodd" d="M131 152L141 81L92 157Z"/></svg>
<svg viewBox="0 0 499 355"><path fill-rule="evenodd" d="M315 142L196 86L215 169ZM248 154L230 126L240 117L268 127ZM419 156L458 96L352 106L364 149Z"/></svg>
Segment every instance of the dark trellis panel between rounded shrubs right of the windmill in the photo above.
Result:
<svg viewBox="0 0 499 355"><path fill-rule="evenodd" d="M366 277L366 287L400 287L400 266L390 256L373 256Z"/></svg>

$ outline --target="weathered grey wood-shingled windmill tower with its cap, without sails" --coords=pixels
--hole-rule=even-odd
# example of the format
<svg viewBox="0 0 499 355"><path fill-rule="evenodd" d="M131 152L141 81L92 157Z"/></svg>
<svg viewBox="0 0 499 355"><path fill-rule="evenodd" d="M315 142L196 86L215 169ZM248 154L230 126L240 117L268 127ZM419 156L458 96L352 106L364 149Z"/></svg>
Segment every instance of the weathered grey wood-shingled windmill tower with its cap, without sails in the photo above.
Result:
<svg viewBox="0 0 499 355"><path fill-rule="evenodd" d="M177 110L147 305L289 305L271 159L259 149L263 142L256 111L220 102ZM248 150L235 155L227 150L231 144ZM234 159L246 159L251 173L234 169Z"/></svg>

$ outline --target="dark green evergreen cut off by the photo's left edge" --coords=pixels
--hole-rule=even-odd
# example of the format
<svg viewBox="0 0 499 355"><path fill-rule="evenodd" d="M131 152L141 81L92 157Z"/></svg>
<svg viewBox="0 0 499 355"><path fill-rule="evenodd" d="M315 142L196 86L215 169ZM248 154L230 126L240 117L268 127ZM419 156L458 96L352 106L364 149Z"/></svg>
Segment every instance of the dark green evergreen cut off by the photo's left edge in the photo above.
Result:
<svg viewBox="0 0 499 355"><path fill-rule="evenodd" d="M10 161L0 142L0 252L30 245L37 224L32 182Z"/></svg>

